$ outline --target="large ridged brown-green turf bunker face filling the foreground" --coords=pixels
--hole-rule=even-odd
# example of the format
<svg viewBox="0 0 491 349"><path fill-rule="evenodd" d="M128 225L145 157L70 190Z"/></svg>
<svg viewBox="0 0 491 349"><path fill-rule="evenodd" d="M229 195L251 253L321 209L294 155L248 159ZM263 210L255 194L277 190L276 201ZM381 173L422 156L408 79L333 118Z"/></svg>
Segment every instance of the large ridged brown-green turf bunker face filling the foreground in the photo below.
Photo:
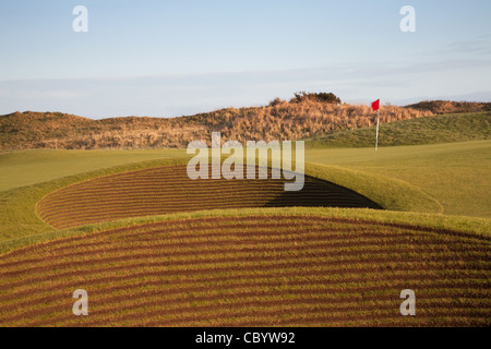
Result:
<svg viewBox="0 0 491 349"><path fill-rule="evenodd" d="M275 215L110 229L0 257L2 326L490 325L490 239ZM89 316L72 292L89 290ZM400 316L399 292L418 294Z"/></svg>

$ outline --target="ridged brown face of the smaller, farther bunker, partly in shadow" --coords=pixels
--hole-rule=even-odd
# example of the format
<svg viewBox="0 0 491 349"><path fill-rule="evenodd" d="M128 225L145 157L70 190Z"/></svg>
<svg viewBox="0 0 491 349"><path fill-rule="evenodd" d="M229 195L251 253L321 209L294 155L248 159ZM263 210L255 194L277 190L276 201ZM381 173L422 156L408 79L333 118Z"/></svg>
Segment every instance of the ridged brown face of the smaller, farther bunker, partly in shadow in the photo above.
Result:
<svg viewBox="0 0 491 349"><path fill-rule="evenodd" d="M39 216L56 228L128 217L247 207L369 207L369 198L306 176L301 191L285 192L284 179L191 180L187 166L166 166L100 177L45 196Z"/></svg>

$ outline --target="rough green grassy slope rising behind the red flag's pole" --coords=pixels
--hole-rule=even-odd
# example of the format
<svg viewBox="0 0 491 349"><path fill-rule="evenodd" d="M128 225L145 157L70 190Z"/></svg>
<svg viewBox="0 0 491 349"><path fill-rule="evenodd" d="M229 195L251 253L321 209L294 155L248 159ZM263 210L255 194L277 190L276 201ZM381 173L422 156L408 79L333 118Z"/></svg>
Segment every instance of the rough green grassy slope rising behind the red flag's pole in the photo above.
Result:
<svg viewBox="0 0 491 349"><path fill-rule="evenodd" d="M379 145L416 145L491 139L491 112L444 115L381 123ZM342 131L307 142L309 147L370 147L375 128Z"/></svg>

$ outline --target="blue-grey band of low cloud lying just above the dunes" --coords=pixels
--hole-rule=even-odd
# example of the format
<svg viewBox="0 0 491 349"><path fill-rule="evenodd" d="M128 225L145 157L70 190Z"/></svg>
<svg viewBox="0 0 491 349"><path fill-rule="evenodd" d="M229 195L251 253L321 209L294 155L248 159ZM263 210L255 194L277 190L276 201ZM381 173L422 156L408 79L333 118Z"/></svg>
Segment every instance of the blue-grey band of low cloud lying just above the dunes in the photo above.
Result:
<svg viewBox="0 0 491 349"><path fill-rule="evenodd" d="M451 73L451 74L450 74ZM297 91L333 92L346 100L463 95L491 89L491 61L334 64L288 71L0 82L0 113L50 110L91 118L175 117L224 107L266 105ZM455 79L450 79L455 76ZM423 98L423 99L426 99Z"/></svg>

